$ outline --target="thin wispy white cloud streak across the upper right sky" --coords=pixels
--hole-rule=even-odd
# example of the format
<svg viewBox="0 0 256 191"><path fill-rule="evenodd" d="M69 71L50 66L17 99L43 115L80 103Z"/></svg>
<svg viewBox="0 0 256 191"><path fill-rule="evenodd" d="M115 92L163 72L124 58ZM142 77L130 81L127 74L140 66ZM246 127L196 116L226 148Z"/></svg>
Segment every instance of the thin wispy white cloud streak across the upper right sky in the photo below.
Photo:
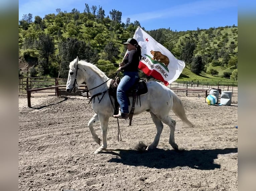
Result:
<svg viewBox="0 0 256 191"><path fill-rule="evenodd" d="M229 8L229 7L237 7L237 0L215 0L215 1L194 1L191 3L186 3L174 7L170 7L168 9L163 10L155 10L151 12L127 15L123 18L130 18L131 22L138 20L140 22L147 21L156 18L172 18L172 17L192 17L194 15L204 15L213 13L214 11L218 11L221 9Z"/></svg>

